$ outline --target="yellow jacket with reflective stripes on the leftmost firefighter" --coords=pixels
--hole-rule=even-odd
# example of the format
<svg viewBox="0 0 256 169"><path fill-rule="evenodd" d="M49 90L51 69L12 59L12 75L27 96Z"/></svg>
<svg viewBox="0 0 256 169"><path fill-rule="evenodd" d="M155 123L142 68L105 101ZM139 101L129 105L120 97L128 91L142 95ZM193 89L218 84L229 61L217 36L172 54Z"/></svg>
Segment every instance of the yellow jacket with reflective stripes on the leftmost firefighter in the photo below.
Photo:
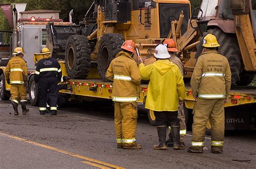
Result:
<svg viewBox="0 0 256 169"><path fill-rule="evenodd" d="M10 79L10 84L23 85L28 79L28 67L21 57L12 57L4 71L5 79Z"/></svg>

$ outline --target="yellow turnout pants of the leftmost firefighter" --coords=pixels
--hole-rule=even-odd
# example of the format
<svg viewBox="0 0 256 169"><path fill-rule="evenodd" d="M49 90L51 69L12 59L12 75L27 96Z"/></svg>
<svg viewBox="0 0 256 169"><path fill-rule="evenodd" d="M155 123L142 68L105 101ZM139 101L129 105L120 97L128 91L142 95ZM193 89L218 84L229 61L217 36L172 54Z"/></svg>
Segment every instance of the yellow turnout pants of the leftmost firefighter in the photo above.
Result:
<svg viewBox="0 0 256 169"><path fill-rule="evenodd" d="M26 86L20 84L11 84L11 100L19 103L26 101Z"/></svg>

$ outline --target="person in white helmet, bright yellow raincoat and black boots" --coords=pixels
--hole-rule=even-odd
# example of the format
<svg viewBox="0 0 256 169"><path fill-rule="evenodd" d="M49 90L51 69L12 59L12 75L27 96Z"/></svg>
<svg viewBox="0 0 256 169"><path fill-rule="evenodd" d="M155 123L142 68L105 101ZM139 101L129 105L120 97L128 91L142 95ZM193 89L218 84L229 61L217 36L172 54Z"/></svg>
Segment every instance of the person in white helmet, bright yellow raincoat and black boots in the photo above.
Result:
<svg viewBox="0 0 256 169"><path fill-rule="evenodd" d="M157 61L153 64L139 65L142 79L150 80L145 108L154 111L159 138L159 144L154 145L153 149L166 150L166 128L171 126L173 149L181 150L184 146L180 145L178 104L185 98L183 76L178 66L169 61L171 56L166 46L159 44L154 56Z"/></svg>

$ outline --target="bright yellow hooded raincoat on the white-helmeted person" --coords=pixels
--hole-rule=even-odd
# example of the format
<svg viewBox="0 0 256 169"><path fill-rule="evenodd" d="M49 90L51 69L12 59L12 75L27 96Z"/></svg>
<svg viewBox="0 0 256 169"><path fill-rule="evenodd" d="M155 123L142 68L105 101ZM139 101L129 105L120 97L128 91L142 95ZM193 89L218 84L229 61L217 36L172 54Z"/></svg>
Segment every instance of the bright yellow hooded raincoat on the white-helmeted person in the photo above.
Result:
<svg viewBox="0 0 256 169"><path fill-rule="evenodd" d="M151 65L139 65L143 80L150 80L145 107L154 111L177 111L185 98L183 76L177 65L168 59Z"/></svg>

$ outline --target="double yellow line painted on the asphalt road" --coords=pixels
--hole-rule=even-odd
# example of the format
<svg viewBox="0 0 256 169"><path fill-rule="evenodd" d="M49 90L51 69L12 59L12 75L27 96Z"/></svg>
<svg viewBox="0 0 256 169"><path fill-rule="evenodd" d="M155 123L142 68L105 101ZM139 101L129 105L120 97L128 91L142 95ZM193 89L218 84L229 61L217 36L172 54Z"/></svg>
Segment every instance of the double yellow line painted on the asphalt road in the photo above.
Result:
<svg viewBox="0 0 256 169"><path fill-rule="evenodd" d="M41 147L44 147L46 149L50 149L50 150L57 151L57 152L60 152L60 153L63 153L63 154L68 154L69 156L73 156L73 157L83 159L85 161L81 161L81 162L84 163L84 164L87 164L87 165L95 166L95 167L98 167L98 168L104 168L104 169L105 168L123 169L123 167L119 167L119 166L116 166L116 165L105 163L104 161L99 161L99 160L92 159L92 158L89 158L89 157L80 156L79 154L75 154L75 153L68 152L68 151L65 151L65 150L56 149L55 147L51 147L51 146L44 145L44 144L41 144L41 143L33 142L31 140L23 139L23 138L20 138L20 137L11 136L11 135L8 135L8 134L3 133L3 132L0 132L0 135L7 136L7 137L10 137L10 138L14 138L14 139L17 139L17 140L21 140L21 141L26 142L26 143L41 146Z"/></svg>

